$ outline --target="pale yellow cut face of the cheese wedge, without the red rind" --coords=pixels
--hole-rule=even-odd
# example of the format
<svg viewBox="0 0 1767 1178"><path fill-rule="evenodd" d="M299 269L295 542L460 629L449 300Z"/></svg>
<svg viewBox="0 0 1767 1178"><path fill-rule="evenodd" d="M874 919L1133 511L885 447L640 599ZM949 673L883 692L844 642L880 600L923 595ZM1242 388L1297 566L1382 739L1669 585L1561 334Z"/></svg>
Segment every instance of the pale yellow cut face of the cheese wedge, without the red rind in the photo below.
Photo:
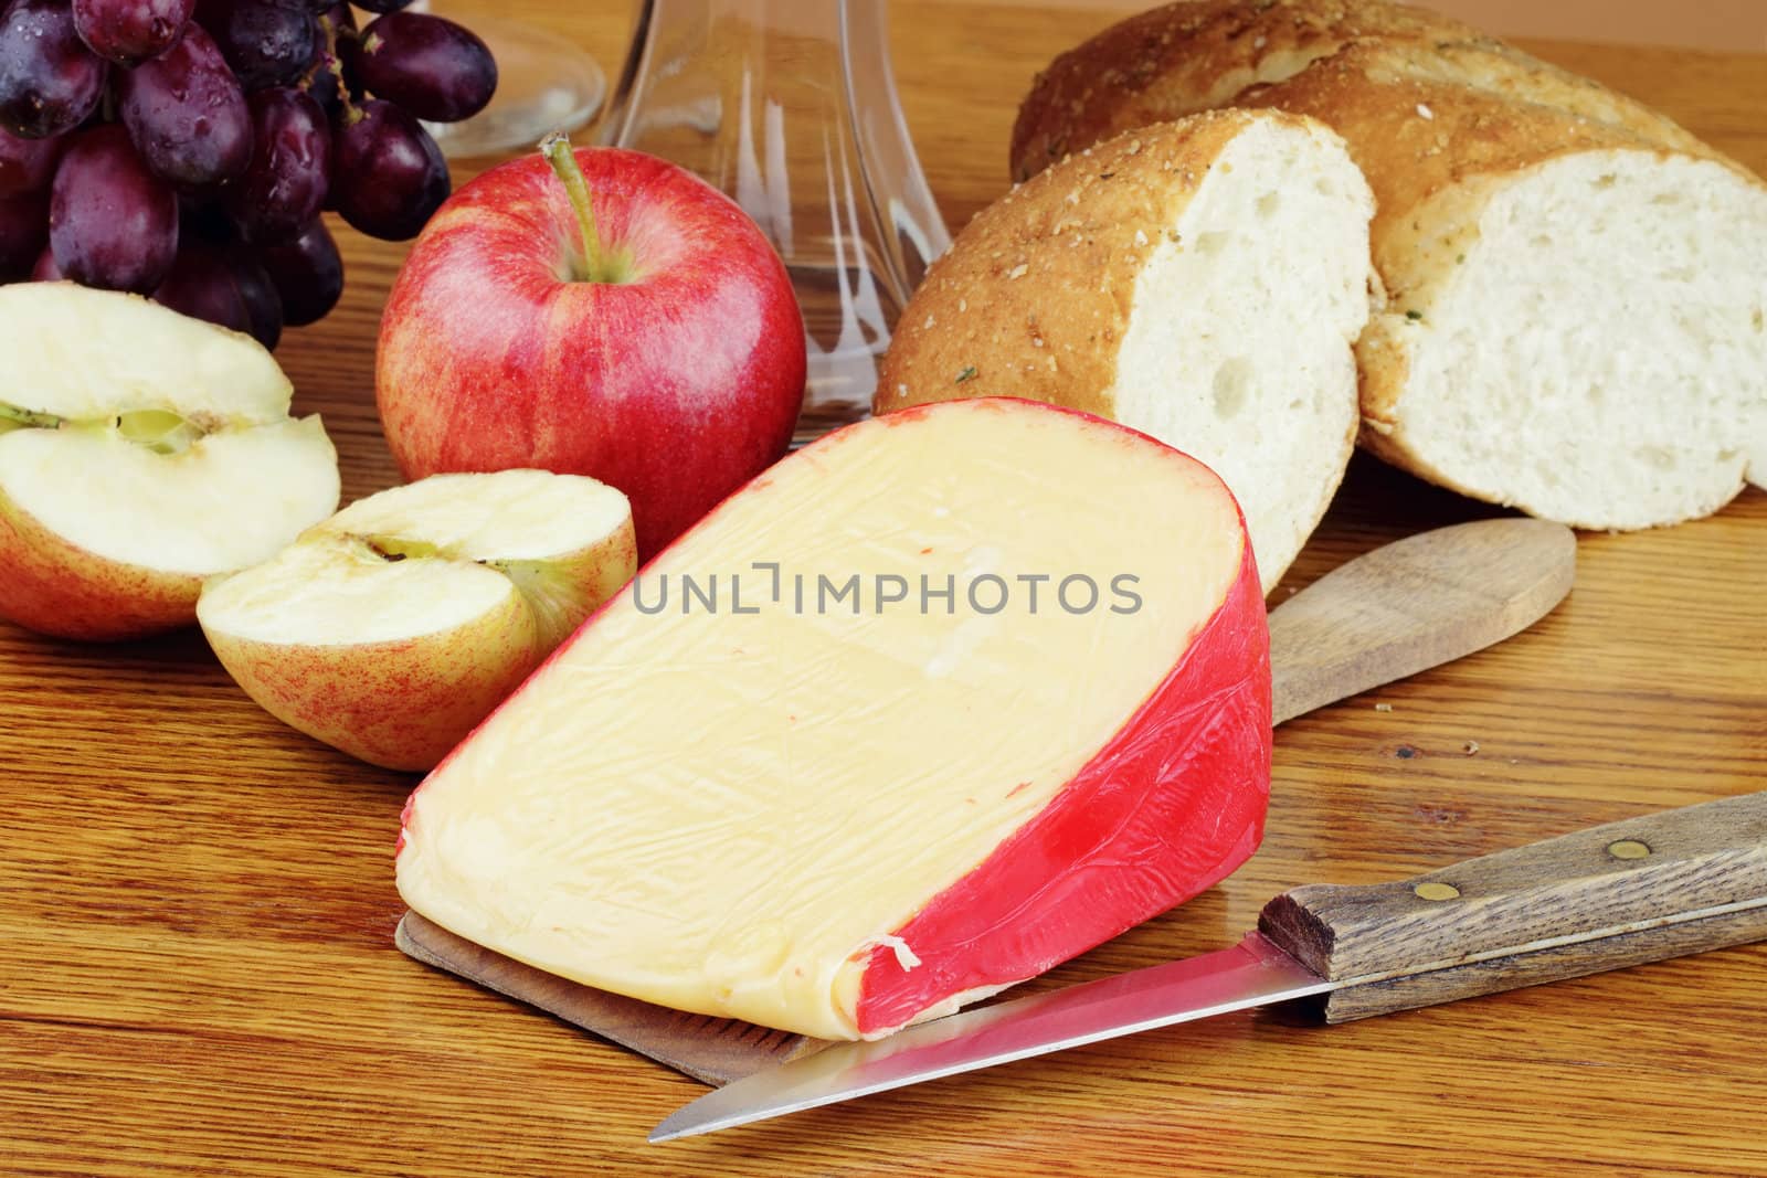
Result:
<svg viewBox="0 0 1767 1178"><path fill-rule="evenodd" d="M979 401L852 429L657 558L431 775L399 890L590 985L855 1037L855 955L1122 726L1225 597L1242 542L1205 470L1085 419ZM779 565L777 602L756 562ZM684 574L716 578L716 613L700 597L682 613ZM859 615L818 609L818 578L853 574ZM880 574L908 600L880 609ZM981 574L1007 585L1000 613L972 608ZM1096 608L1057 600L1074 574ZM922 576L952 578L951 613L938 597L922 611ZM1035 613L1021 576L1051 578ZM732 578L758 613L735 613ZM640 609L664 579L666 609Z"/></svg>

